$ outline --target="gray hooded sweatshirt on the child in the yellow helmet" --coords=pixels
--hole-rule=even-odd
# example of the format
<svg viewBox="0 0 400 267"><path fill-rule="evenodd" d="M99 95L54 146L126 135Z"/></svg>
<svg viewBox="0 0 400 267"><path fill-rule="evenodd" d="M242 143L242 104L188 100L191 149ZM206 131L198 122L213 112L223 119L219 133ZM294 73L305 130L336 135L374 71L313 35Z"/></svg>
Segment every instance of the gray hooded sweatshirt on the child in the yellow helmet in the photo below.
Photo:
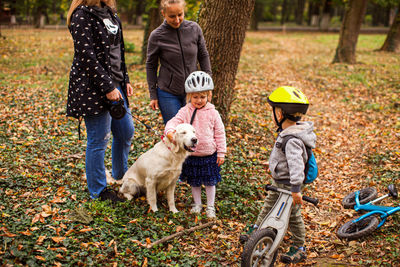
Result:
<svg viewBox="0 0 400 267"><path fill-rule="evenodd" d="M308 160L305 145L315 148L314 124L309 121L297 122L284 129L276 139L269 157L269 169L276 183L291 185L291 191L298 193L304 181L304 167ZM285 153L281 147L282 138L293 135L286 143Z"/></svg>

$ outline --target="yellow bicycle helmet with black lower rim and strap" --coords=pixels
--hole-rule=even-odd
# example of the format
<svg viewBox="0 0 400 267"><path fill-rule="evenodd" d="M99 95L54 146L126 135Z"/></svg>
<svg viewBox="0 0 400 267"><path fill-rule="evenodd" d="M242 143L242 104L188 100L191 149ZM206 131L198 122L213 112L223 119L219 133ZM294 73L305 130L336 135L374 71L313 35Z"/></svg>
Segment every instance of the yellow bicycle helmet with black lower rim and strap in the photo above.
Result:
<svg viewBox="0 0 400 267"><path fill-rule="evenodd" d="M306 114L309 102L302 91L292 86L281 86L275 89L268 96L268 103L272 106L274 112L274 119L278 125L278 131L282 130L282 123L286 120L299 121L300 114ZM279 107L283 111L283 119L278 121L275 108Z"/></svg>

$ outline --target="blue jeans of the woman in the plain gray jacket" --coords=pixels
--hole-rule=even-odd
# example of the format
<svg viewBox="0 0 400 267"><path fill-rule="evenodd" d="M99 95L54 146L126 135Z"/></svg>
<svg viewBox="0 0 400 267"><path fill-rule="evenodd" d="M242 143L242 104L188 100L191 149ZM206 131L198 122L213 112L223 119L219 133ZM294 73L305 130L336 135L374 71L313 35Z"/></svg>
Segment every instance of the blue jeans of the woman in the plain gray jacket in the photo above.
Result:
<svg viewBox="0 0 400 267"><path fill-rule="evenodd" d="M186 105L185 95L173 95L165 92L160 88L157 88L158 106L160 107L161 115L164 120L164 124L175 117L176 113Z"/></svg>

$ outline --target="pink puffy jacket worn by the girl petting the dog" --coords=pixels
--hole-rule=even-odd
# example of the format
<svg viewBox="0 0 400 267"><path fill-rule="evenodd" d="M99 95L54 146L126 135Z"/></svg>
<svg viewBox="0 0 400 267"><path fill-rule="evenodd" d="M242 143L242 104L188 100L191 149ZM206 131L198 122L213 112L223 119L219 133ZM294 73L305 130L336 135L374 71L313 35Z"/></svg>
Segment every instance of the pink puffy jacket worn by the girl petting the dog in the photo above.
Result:
<svg viewBox="0 0 400 267"><path fill-rule="evenodd" d="M168 132L173 131L178 124L190 123L194 110L195 107L191 103L182 107L178 114L168 121L164 134L167 135ZM225 157L225 127L213 104L207 103L203 108L197 110L193 127L196 129L198 143L192 156L209 156L217 151L217 157Z"/></svg>

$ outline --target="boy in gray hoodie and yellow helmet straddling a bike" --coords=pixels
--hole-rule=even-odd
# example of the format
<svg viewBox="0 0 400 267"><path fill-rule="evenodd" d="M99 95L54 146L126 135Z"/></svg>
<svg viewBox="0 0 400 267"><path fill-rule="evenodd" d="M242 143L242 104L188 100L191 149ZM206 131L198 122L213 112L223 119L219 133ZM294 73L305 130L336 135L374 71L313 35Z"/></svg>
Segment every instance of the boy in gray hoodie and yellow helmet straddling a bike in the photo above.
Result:
<svg viewBox="0 0 400 267"><path fill-rule="evenodd" d="M273 118L279 133L269 158L272 185L291 191L293 197L293 208L289 219L293 246L281 257L281 261L297 263L306 259L305 227L300 210L303 204L301 190L304 187L304 168L308 160L305 146L315 148L316 135L313 132L312 122L300 122L301 116L307 112L309 102L299 89L290 86L279 87L268 97L268 103L272 106ZM282 141L287 135L295 138L287 141L284 153ZM278 196L279 192L269 191L253 229L258 228Z"/></svg>

